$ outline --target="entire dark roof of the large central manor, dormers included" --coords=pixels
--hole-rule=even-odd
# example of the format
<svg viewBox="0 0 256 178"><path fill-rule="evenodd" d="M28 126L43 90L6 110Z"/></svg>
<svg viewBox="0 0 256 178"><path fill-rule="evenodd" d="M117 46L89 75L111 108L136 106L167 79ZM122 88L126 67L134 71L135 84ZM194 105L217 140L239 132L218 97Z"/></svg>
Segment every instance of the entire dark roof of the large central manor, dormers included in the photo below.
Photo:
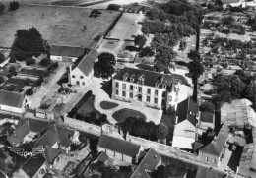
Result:
<svg viewBox="0 0 256 178"><path fill-rule="evenodd" d="M162 88L163 86L170 87L172 83L180 82L170 74L160 74L154 71L146 71L142 69L123 68L113 79L127 81L131 83L139 83L141 85Z"/></svg>

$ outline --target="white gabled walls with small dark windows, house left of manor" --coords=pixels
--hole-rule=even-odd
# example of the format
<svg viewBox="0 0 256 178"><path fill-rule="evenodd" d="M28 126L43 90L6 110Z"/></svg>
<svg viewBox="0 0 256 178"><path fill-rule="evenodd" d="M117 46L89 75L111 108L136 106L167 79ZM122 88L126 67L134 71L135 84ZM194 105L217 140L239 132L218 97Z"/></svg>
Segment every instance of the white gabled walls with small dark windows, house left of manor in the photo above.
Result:
<svg viewBox="0 0 256 178"><path fill-rule="evenodd" d="M79 70L79 68L75 68L74 70L71 70L71 67L70 67L69 81L70 81L70 84L74 86L86 87L92 82L93 77L94 77L93 69L91 70L91 73L89 73L89 75L85 75L82 71Z"/></svg>

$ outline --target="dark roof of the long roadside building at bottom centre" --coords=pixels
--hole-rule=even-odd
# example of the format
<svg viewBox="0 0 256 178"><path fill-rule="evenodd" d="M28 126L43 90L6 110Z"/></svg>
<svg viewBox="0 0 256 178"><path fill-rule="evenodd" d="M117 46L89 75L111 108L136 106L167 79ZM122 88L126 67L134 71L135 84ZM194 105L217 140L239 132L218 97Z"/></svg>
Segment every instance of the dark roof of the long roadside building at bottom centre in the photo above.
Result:
<svg viewBox="0 0 256 178"><path fill-rule="evenodd" d="M140 146L132 144L128 141L110 137L104 134L100 135L97 147L106 148L130 157L137 155L141 148Z"/></svg>

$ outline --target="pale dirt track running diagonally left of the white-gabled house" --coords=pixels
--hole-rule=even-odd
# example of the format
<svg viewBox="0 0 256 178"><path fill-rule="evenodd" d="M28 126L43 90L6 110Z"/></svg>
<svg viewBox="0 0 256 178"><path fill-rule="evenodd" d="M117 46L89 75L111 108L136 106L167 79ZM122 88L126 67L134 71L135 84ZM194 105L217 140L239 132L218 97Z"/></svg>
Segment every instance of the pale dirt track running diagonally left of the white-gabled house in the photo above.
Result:
<svg viewBox="0 0 256 178"><path fill-rule="evenodd" d="M57 91L59 89L59 85L57 84L57 82L62 77L62 75L65 74L66 68L70 65L71 63L69 62L59 63L59 66L56 69L56 74L54 73L51 74L48 79L48 83L47 84L43 83L42 86L32 95L31 97L32 109L38 108L40 106L41 98L43 96L57 94Z"/></svg>

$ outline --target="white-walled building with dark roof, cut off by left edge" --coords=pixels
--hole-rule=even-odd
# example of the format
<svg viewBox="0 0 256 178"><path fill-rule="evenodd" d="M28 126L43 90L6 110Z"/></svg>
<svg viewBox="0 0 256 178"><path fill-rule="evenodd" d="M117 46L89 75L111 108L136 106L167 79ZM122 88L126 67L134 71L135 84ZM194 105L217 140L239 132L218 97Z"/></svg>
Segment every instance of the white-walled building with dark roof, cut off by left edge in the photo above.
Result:
<svg viewBox="0 0 256 178"><path fill-rule="evenodd" d="M30 100L24 93L0 90L0 110L22 114L29 105Z"/></svg>

